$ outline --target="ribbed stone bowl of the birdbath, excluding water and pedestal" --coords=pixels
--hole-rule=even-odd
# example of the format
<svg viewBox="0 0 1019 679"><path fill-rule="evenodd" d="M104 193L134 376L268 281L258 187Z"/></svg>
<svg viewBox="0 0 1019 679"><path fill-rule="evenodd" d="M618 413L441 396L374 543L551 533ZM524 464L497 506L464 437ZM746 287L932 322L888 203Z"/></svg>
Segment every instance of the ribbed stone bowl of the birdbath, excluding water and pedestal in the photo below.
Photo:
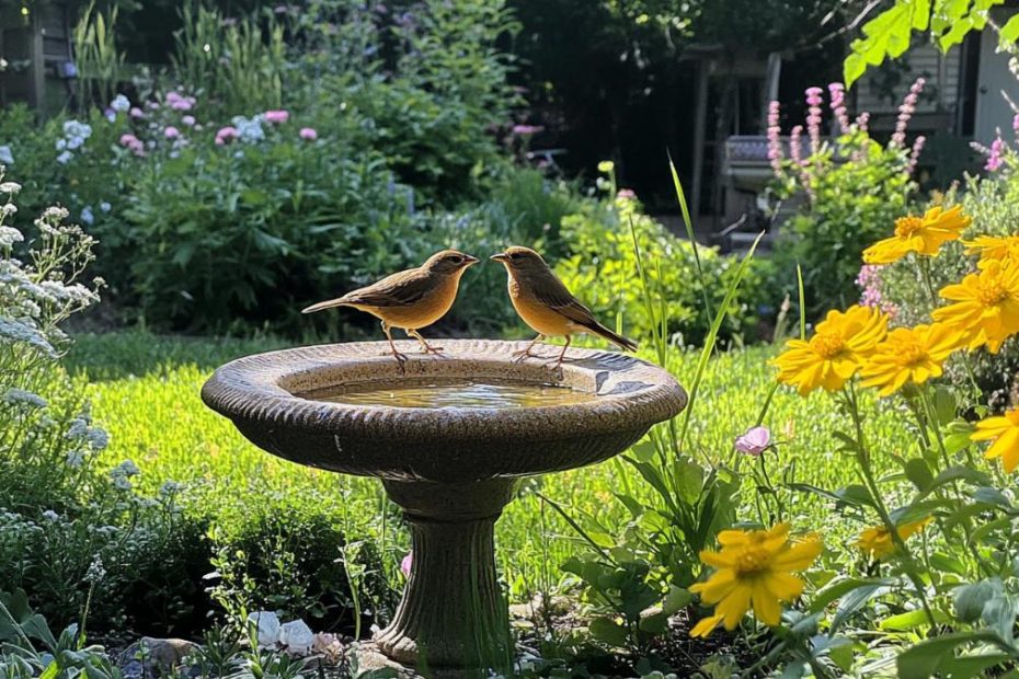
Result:
<svg viewBox="0 0 1019 679"><path fill-rule="evenodd" d="M669 372L614 352L571 349L562 379L554 380L558 376L546 361L513 360L513 353L526 346L523 342L446 340L442 344L444 354L436 357L414 354L415 344L401 343L401 350L410 356L402 370L387 356L385 342L255 354L217 369L202 398L249 439L279 457L343 473L437 482L541 474L597 462L609 456L596 454L595 449L603 447L585 446L585 440L627 431L639 438L651 425L678 414L687 402ZM352 381L391 384L422 378L554 382L596 398L515 408L422 408L299 395ZM362 444L365 453L358 454ZM523 447L534 454L506 454ZM426 457L435 450L454 454L445 461ZM403 458L396 459L398 454ZM465 464L473 471L456 468Z"/></svg>

